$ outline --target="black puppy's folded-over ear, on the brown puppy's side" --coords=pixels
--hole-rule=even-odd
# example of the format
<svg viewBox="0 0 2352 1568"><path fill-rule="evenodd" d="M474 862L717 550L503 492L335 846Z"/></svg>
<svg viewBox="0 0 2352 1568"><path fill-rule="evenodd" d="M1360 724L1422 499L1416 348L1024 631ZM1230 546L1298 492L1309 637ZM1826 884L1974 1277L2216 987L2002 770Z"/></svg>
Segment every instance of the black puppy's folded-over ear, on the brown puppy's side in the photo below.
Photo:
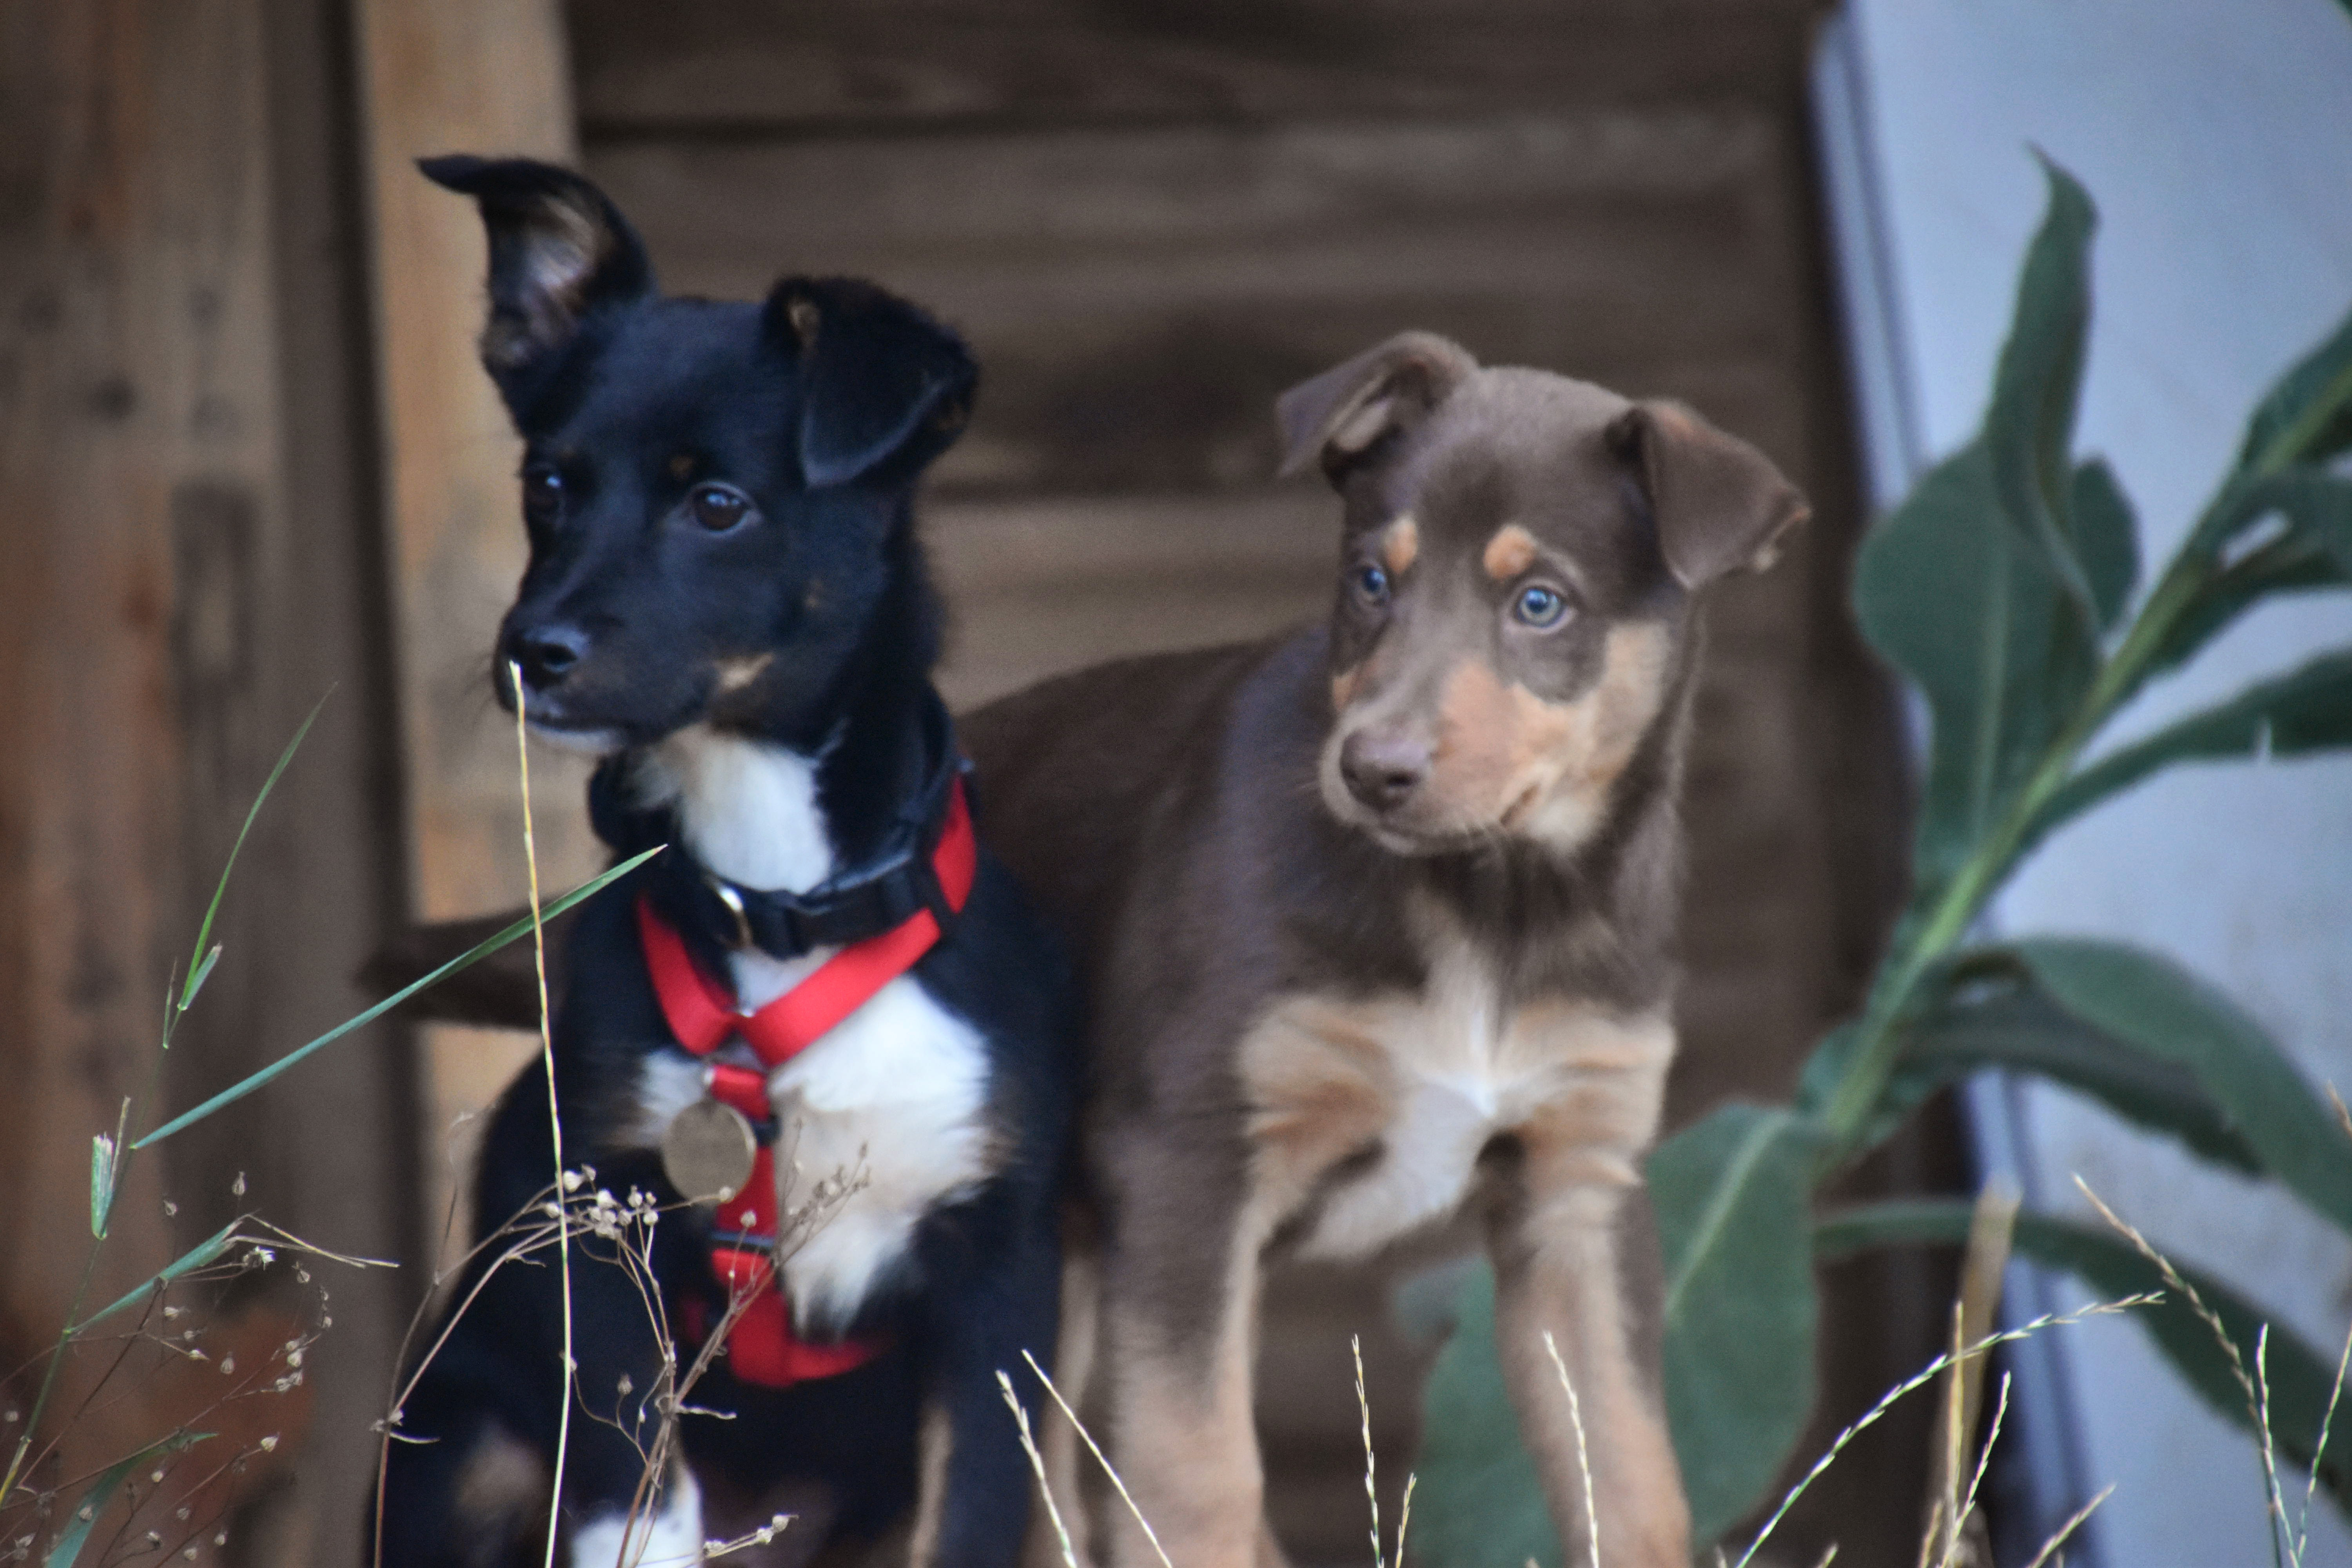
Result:
<svg viewBox="0 0 2352 1568"><path fill-rule="evenodd" d="M800 470L811 489L920 468L971 418L971 350L887 289L786 277L767 296L764 327L800 362Z"/></svg>

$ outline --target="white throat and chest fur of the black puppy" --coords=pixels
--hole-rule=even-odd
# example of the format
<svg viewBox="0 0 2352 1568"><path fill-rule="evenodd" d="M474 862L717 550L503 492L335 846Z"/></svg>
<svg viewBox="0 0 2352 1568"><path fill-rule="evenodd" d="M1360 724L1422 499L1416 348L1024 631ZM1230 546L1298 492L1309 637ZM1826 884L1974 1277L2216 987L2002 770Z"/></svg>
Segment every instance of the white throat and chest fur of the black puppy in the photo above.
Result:
<svg viewBox="0 0 2352 1568"><path fill-rule="evenodd" d="M708 729L663 741L640 771L649 802L677 809L696 860L755 889L807 891L833 875L816 799L816 759ZM757 1011L811 976L833 950L779 961L736 954L739 1006ZM844 1321L915 1225L988 1175L988 1051L978 1030L898 976L807 1051L769 1072L769 1100L793 1154L788 1204L840 1182L823 1225L786 1260L802 1328ZM701 1095L701 1065L649 1056L640 1126L659 1138Z"/></svg>

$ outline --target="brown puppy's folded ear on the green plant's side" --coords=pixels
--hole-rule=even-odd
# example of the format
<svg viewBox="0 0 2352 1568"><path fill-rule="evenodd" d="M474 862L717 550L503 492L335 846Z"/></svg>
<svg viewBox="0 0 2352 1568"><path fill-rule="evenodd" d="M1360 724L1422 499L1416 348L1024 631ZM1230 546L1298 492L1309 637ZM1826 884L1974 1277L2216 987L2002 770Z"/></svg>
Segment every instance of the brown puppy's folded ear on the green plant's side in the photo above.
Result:
<svg viewBox="0 0 2352 1568"><path fill-rule="evenodd" d="M1764 571L1813 508L1762 451L1679 402L1649 400L1602 433L1658 520L1658 550L1684 588L1726 571Z"/></svg>

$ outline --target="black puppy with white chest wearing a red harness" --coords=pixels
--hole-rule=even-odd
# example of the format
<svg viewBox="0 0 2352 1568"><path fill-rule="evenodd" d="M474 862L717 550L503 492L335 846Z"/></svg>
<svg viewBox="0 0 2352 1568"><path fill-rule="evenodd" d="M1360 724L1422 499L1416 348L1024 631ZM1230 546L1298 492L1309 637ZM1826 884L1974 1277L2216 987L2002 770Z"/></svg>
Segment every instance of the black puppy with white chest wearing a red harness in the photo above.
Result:
<svg viewBox="0 0 2352 1568"><path fill-rule="evenodd" d="M536 733L604 755L590 809L614 851L670 844L569 938L564 1161L663 1204L727 1192L663 1218L652 1258L687 1356L741 1312L691 1389L684 1465L640 1493L654 1321L609 1239L574 1241L560 1544L579 1568L701 1561L786 1509L734 1561L913 1521L922 1563L1009 1563L1028 1469L995 1375L1054 1347L1075 1027L1051 940L974 851L929 679L913 487L964 423L971 357L851 280L663 299L564 169L423 172L482 209L482 362L527 442L499 698L520 670ZM477 1232L550 1180L534 1067L485 1140ZM826 1192L776 1248L779 1208L790 1232ZM388 1566L539 1563L560 1338L553 1258L463 1307L390 1446Z"/></svg>

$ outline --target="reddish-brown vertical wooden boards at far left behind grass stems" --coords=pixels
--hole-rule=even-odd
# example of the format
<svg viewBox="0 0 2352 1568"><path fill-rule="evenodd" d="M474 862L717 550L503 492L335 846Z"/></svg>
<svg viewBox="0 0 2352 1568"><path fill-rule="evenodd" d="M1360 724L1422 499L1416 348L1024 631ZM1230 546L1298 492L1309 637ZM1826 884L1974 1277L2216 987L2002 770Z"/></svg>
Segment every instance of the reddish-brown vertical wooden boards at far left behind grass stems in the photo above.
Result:
<svg viewBox="0 0 2352 1568"><path fill-rule="evenodd" d="M358 1011L348 978L402 917L348 63L327 0L0 12L9 1368L66 1314L89 1248L89 1138L153 1081L167 976L254 790L322 696L245 849L219 969L134 1131ZM409 1105L400 1037L379 1030L141 1157L89 1300L238 1211L336 1251L407 1253ZM40 1483L87 1476L212 1403L233 1345L247 1371L275 1352L315 1307L289 1274L183 1319L209 1324L212 1361L134 1356ZM301 1387L205 1422L223 1443L282 1439L221 1479L242 1497L228 1530L245 1561L334 1563L358 1547L369 1422L409 1300L400 1276L313 1281L334 1328ZM118 1352L75 1361L59 1410ZM12 1413L26 1394L9 1385ZM19 1429L12 1415L7 1439ZM205 1467L226 1460L207 1453ZM167 1512L155 1523L179 1528ZM221 1556L209 1530L200 1549Z"/></svg>

